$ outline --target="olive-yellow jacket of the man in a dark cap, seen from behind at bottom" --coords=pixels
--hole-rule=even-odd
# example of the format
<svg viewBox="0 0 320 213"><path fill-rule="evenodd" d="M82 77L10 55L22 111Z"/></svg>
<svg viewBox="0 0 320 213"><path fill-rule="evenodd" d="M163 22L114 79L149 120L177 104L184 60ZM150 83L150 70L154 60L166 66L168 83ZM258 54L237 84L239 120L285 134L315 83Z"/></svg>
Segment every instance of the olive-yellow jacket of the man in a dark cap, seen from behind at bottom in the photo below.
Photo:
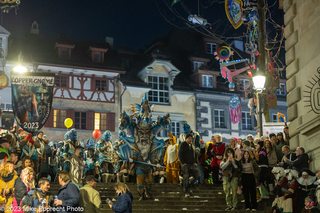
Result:
<svg viewBox="0 0 320 213"><path fill-rule="evenodd" d="M90 185L84 185L79 189L80 207L84 212L98 213L101 211L100 194Z"/></svg>

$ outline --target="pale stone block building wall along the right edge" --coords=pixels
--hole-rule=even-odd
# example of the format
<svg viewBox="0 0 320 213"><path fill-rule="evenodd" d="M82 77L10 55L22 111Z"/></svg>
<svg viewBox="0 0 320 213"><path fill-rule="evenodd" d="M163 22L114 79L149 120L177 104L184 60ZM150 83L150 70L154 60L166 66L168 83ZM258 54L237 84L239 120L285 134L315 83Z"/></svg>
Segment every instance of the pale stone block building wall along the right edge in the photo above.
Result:
<svg viewBox="0 0 320 213"><path fill-rule="evenodd" d="M284 0L290 148L301 146L320 168L320 1Z"/></svg>

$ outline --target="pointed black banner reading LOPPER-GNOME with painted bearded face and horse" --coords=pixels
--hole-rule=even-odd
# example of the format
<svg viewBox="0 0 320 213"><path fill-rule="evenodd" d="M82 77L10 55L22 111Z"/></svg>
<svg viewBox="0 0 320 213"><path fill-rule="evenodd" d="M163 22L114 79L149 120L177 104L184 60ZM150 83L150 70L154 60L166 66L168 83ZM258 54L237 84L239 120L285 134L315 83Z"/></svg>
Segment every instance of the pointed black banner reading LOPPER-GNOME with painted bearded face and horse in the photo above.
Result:
<svg viewBox="0 0 320 213"><path fill-rule="evenodd" d="M52 106L54 73L11 72L12 110L28 133L40 130Z"/></svg>

